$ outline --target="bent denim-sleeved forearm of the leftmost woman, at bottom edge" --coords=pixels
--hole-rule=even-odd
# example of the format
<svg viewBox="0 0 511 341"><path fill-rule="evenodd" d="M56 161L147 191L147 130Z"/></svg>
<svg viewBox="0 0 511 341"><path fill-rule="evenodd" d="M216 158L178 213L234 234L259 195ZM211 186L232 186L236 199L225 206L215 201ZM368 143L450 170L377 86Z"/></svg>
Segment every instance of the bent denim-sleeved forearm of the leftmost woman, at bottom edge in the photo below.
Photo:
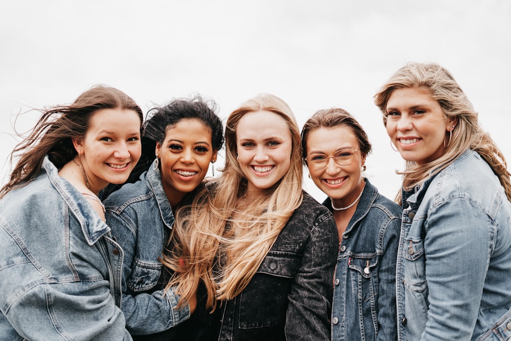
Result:
<svg viewBox="0 0 511 341"><path fill-rule="evenodd" d="M131 340L109 287L106 280L39 284L5 315L25 339Z"/></svg>

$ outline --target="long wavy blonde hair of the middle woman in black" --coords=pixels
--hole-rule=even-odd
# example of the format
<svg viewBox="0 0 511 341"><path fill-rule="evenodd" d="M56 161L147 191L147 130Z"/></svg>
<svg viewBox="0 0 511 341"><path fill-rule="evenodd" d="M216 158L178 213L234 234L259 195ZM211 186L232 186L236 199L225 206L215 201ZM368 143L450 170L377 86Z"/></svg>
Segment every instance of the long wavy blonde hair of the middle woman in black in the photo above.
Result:
<svg viewBox="0 0 511 341"><path fill-rule="evenodd" d="M280 181L258 198L250 198L248 208L240 211L237 202L244 196L247 179L237 161L236 129L245 114L263 110L286 121L292 138L291 163ZM207 183L191 206L178 210L172 245L162 259L174 274L167 289L177 285L179 305L196 295L200 282L207 291L208 308L239 295L303 200L300 133L283 100L262 94L243 103L227 119L225 144L222 175Z"/></svg>

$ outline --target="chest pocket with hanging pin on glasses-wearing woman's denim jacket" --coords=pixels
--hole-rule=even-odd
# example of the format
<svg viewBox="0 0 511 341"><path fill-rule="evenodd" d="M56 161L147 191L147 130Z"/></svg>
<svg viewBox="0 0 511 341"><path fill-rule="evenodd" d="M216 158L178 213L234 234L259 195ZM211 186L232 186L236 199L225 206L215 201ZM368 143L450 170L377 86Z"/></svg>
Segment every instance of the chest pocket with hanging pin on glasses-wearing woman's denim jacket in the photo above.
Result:
<svg viewBox="0 0 511 341"><path fill-rule="evenodd" d="M364 302L378 296L378 280L373 272L378 264L378 256L351 256L348 261L353 293Z"/></svg>

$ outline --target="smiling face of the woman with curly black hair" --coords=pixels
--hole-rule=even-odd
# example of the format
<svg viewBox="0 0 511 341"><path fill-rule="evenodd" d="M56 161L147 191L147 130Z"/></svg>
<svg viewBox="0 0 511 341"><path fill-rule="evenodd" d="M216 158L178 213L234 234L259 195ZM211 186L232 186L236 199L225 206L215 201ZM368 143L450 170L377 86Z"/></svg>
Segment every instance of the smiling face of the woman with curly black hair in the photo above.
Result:
<svg viewBox="0 0 511 341"><path fill-rule="evenodd" d="M162 144L156 144L161 180L172 207L200 184L210 162L216 161L211 139L211 129L202 122L182 119L168 128Z"/></svg>

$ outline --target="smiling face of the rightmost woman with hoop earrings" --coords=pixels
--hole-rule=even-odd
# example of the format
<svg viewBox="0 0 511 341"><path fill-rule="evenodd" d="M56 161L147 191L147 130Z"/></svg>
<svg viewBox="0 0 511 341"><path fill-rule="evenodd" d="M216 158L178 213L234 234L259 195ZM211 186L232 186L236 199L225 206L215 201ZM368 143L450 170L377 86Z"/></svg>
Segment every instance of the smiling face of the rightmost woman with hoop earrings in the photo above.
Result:
<svg viewBox="0 0 511 341"><path fill-rule="evenodd" d="M445 153L444 138L455 126L426 87L394 90L387 102L387 134L403 159L421 165Z"/></svg>

